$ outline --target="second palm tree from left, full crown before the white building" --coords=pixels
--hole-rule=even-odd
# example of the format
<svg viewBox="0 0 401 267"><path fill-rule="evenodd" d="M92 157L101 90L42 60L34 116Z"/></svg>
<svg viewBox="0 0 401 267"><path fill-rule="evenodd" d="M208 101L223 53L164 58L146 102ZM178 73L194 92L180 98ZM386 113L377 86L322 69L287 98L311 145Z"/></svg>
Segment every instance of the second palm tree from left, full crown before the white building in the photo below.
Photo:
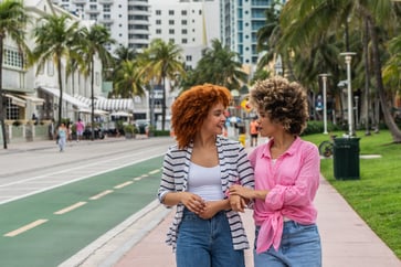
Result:
<svg viewBox="0 0 401 267"><path fill-rule="evenodd" d="M45 14L40 19L43 23L39 23L33 29L33 35L36 46L30 57L30 64L38 62L38 71L43 70L48 61L53 61L57 70L59 81L59 121L62 120L63 107L63 78L62 78L62 61L68 60L73 44L76 43L76 31L78 22L73 22L67 15Z"/></svg>

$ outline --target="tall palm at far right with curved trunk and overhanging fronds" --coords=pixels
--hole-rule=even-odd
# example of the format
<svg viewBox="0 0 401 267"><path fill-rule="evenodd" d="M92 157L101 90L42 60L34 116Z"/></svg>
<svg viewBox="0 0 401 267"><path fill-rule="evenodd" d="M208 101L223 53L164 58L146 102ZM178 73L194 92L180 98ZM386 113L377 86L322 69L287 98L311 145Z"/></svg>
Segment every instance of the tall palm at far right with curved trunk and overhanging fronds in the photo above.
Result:
<svg viewBox="0 0 401 267"><path fill-rule="evenodd" d="M283 30L285 33L281 44L286 45L289 43L292 45L305 46L315 42L328 29L338 26L339 23L347 21L348 18L361 18L362 21L366 21L371 43L372 70L383 118L393 137L393 141L401 142L401 130L395 125L387 103L381 73L381 52L384 51L380 51L382 41L378 34L380 29L384 26L391 29L397 24L392 23L394 21L392 19L394 18L394 2L389 0L310 0L287 2L281 18L282 28L285 29Z"/></svg>

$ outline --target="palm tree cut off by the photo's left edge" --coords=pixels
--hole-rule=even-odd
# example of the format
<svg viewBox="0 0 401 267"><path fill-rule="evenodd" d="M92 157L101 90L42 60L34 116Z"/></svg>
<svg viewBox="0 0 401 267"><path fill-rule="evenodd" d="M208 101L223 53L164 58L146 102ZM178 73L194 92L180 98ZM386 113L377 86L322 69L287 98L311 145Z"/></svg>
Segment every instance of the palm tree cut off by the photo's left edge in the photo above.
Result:
<svg viewBox="0 0 401 267"><path fill-rule="evenodd" d="M3 106L3 89L2 89L2 70L3 70L3 45L4 40L9 36L20 51L29 51L25 39L25 25L28 15L23 8L22 1L19 0L4 0L0 2L0 124L3 137L3 147L7 149L6 137L6 109ZM22 55L21 55L22 56Z"/></svg>

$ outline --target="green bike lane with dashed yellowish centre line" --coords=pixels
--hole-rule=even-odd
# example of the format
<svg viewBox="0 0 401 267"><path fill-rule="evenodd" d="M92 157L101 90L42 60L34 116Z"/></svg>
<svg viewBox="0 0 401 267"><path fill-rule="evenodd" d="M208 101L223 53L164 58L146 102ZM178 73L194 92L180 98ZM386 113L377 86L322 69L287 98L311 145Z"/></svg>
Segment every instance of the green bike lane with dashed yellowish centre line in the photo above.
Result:
<svg viewBox="0 0 401 267"><path fill-rule="evenodd" d="M0 205L0 266L68 259L156 199L161 162L145 160Z"/></svg>

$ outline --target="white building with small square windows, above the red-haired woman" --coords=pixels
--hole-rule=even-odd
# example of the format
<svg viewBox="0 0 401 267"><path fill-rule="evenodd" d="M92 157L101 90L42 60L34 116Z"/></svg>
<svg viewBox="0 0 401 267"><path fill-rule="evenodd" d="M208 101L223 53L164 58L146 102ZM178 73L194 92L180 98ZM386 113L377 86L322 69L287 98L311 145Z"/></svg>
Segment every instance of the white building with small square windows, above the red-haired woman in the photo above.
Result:
<svg viewBox="0 0 401 267"><path fill-rule="evenodd" d="M220 40L219 0L149 0L150 40L172 41L183 50L188 68L194 68L202 50Z"/></svg>

